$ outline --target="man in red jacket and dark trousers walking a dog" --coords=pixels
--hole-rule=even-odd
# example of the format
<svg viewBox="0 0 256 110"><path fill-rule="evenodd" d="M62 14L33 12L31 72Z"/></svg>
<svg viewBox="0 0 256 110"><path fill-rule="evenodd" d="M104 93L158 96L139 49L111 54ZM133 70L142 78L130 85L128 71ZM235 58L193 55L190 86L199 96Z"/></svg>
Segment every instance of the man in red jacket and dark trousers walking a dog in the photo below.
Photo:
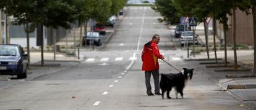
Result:
<svg viewBox="0 0 256 110"><path fill-rule="evenodd" d="M144 45L142 51L142 71L145 71L147 94L154 95L151 92L150 77L151 74L155 84L155 94L161 95L159 88L159 64L158 59L164 60L163 55L160 54L158 49L158 43L160 42L160 36L155 34L152 37L152 41L147 42Z"/></svg>

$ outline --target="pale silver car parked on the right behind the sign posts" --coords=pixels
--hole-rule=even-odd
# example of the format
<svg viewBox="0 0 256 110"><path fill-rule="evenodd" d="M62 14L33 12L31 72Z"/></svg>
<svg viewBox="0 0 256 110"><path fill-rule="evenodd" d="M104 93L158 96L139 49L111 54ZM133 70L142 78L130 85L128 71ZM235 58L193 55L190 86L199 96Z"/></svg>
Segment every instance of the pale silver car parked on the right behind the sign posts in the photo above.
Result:
<svg viewBox="0 0 256 110"><path fill-rule="evenodd" d="M197 37L198 35L195 35L195 44L198 44ZM192 31L182 32L180 39L181 39L182 46L184 46L184 44L187 42L189 45L193 44L193 32Z"/></svg>

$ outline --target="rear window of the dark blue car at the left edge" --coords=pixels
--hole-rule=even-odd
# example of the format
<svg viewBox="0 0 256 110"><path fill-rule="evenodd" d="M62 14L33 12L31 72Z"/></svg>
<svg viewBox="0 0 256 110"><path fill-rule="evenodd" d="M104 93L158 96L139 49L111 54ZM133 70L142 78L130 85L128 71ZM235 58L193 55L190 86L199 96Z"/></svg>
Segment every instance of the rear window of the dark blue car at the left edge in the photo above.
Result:
<svg viewBox="0 0 256 110"><path fill-rule="evenodd" d="M16 45L0 45L0 56L19 56Z"/></svg>

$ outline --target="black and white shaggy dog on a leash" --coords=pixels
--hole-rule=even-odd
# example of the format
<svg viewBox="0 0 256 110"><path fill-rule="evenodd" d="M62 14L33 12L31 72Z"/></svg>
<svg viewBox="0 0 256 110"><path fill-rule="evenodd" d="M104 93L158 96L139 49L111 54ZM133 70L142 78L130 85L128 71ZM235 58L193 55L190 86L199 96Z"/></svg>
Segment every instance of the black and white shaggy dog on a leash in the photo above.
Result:
<svg viewBox="0 0 256 110"><path fill-rule="evenodd" d="M161 74L161 81L160 81L160 89L162 91L162 98L164 99L164 93L166 92L167 98L171 98L169 93L171 92L172 88L176 90L176 98L178 93L181 94L183 98L183 89L187 84L188 80L192 79L193 70L194 69L187 69L183 68L184 71L182 73L169 73L169 74Z"/></svg>

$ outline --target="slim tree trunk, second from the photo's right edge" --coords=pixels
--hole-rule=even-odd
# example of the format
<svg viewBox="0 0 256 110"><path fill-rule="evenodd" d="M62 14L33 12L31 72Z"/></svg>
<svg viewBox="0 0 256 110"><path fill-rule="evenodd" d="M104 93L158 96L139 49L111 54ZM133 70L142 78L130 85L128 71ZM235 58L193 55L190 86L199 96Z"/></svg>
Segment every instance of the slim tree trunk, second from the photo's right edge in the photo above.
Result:
<svg viewBox="0 0 256 110"><path fill-rule="evenodd" d="M233 47L234 47L234 69L237 69L236 54L236 7L233 8Z"/></svg>

